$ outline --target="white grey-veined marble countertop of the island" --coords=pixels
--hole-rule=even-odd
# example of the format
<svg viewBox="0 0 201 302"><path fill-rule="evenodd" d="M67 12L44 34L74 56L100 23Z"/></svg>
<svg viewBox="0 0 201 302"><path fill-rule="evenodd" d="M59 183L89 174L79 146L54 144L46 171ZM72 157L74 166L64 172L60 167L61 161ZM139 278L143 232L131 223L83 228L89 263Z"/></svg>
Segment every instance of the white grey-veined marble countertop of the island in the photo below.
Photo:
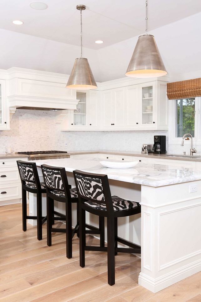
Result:
<svg viewBox="0 0 201 302"><path fill-rule="evenodd" d="M80 157L72 159L47 159L34 162L36 162L38 167L42 164L47 164L55 167L65 167L65 170L68 172L73 172L73 170L78 169L90 173L107 174L109 179L128 183L137 183L151 187L201 180L201 171L196 171L192 168L181 168L159 164L150 165L139 162L137 166L133 168L111 169L103 167L100 164L100 161L100 158ZM113 160L112 162L115 161Z"/></svg>

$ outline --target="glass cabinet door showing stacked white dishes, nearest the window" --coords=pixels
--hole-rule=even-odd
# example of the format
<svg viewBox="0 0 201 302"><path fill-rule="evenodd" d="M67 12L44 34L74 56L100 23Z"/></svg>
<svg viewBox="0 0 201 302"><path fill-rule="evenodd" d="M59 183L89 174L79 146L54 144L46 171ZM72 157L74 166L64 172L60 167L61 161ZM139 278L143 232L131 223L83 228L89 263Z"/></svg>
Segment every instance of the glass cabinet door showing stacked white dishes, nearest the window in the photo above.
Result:
<svg viewBox="0 0 201 302"><path fill-rule="evenodd" d="M147 83L148 84L148 83ZM149 86L141 87L140 126L144 128L156 127L156 84L150 82Z"/></svg>

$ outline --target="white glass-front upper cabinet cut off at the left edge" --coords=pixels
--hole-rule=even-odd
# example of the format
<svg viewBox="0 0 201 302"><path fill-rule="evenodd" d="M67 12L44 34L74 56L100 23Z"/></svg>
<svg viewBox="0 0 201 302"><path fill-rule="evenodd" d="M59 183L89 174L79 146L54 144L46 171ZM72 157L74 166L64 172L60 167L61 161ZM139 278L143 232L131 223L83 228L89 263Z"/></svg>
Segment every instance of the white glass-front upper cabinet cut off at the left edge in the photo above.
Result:
<svg viewBox="0 0 201 302"><path fill-rule="evenodd" d="M0 80L0 130L9 128L9 116L7 117L6 108L6 81Z"/></svg>

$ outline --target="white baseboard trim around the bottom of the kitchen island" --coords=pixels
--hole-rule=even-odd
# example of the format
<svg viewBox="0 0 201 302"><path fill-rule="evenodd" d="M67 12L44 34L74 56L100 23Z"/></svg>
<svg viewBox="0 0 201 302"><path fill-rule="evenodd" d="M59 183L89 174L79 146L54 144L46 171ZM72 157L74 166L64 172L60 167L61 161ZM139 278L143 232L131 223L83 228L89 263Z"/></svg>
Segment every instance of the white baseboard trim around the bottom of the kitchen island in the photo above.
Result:
<svg viewBox="0 0 201 302"><path fill-rule="evenodd" d="M162 289L167 288L187 277L190 277L201 271L201 260L195 261L188 266L182 267L179 270L153 279L144 273L139 274L138 284L150 290L152 293L157 293Z"/></svg>

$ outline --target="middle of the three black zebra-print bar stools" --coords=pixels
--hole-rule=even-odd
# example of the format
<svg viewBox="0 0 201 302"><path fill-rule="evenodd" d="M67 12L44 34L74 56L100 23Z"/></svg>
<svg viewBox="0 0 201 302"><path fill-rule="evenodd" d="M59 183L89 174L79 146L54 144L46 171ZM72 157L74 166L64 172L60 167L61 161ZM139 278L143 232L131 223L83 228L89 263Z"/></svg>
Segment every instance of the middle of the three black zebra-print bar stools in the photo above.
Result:
<svg viewBox="0 0 201 302"><path fill-rule="evenodd" d="M72 257L72 238L77 233L79 236L79 204L77 189L71 189L68 184L65 168L51 167L48 165L41 165L44 182L47 193L47 244L52 244L52 232L66 233L66 257ZM54 211L54 200L63 202L66 205L65 215ZM77 204L77 224L72 230L72 203ZM58 217L54 216L57 215ZM104 219L104 217L103 217ZM90 225L84 227L89 228L86 230L87 234L100 234L101 242L105 242L104 228L101 233L100 228L104 225L104 221L100 220L99 228ZM66 228L52 228L53 220L66 221Z"/></svg>

